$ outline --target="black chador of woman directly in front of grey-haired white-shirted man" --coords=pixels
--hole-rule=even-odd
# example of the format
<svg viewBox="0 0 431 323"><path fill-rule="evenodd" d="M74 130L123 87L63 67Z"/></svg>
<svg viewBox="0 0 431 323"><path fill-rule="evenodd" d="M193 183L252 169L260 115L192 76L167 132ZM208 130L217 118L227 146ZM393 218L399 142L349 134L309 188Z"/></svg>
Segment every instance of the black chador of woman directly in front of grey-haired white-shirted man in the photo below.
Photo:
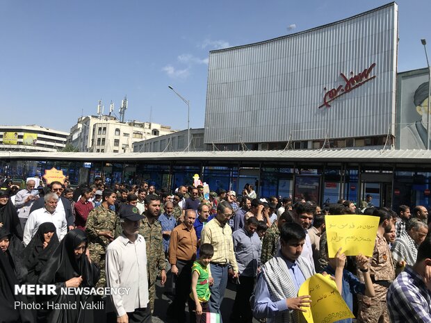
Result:
<svg viewBox="0 0 431 323"><path fill-rule="evenodd" d="M43 247L45 242L44 233L54 232L51 240L46 248ZM45 267L47 260L51 258L54 251L58 247L58 237L56 233L56 226L51 222L44 222L40 224L38 231L33 235L33 238L24 249L23 258L24 265L29 271L27 276L27 283L38 283L40 272Z"/></svg>

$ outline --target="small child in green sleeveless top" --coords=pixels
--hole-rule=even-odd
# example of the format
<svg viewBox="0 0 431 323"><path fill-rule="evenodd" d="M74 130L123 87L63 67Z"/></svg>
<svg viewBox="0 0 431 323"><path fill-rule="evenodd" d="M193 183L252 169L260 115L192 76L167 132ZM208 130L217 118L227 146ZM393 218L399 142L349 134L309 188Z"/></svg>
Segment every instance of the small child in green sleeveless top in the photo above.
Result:
<svg viewBox="0 0 431 323"><path fill-rule="evenodd" d="M209 263L214 255L214 248L209 243L200 246L199 260L193 263L192 285L190 297L188 299L188 310L190 313L190 323L205 323L206 315L209 312L208 301L211 295L209 285L212 285Z"/></svg>

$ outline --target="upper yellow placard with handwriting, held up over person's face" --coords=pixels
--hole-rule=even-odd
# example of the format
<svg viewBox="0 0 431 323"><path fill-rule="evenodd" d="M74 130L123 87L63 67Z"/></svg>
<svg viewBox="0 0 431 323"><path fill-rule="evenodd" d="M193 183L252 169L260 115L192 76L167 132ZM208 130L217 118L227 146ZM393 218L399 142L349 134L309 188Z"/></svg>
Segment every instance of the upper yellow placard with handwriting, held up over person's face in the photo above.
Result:
<svg viewBox="0 0 431 323"><path fill-rule="evenodd" d="M372 215L326 215L327 250L330 258L343 247L346 256L373 256L380 217Z"/></svg>

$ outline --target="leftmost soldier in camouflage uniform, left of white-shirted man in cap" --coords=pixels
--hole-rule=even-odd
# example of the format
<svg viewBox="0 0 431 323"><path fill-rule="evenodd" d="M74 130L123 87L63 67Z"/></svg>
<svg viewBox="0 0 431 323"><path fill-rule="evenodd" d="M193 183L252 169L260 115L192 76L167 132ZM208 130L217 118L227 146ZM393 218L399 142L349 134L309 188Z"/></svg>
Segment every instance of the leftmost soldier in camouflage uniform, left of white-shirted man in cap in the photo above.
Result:
<svg viewBox="0 0 431 323"><path fill-rule="evenodd" d="M115 234L115 222L117 216L109 206L113 206L117 194L112 190L104 190L101 205L91 210L86 222L86 233L88 235L88 249L90 258L100 268L100 279L96 287L106 287L105 256L106 247L113 241Z"/></svg>

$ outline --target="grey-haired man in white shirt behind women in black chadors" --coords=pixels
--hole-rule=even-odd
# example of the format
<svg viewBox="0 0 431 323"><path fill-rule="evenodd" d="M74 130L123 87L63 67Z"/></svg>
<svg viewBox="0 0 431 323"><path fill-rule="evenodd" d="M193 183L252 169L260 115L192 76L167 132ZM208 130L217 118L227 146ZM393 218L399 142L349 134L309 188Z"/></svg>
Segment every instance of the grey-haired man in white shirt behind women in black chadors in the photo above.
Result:
<svg viewBox="0 0 431 323"><path fill-rule="evenodd" d="M48 193L44 196L45 206L34 210L29 215L29 219L24 227L24 245L29 245L31 238L35 235L40 224L44 222L52 222L56 226L58 240L63 239L67 233L67 221L64 213L58 212L58 196L56 193Z"/></svg>

